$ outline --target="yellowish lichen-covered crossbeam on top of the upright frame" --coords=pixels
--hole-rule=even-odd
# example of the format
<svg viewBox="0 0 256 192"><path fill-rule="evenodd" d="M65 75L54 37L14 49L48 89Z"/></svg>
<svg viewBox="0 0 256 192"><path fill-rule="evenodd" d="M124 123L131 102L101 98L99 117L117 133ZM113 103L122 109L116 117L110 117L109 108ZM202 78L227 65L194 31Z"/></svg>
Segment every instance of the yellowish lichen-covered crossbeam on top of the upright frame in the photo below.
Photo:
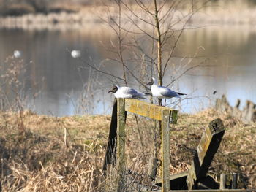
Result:
<svg viewBox="0 0 256 192"><path fill-rule="evenodd" d="M136 99L125 99L125 110L127 112L136 113L146 118L152 118L155 120L162 120L162 110L169 110L171 112L171 115L169 117L171 119L170 123L177 122L177 110L149 104L145 101L140 101Z"/></svg>

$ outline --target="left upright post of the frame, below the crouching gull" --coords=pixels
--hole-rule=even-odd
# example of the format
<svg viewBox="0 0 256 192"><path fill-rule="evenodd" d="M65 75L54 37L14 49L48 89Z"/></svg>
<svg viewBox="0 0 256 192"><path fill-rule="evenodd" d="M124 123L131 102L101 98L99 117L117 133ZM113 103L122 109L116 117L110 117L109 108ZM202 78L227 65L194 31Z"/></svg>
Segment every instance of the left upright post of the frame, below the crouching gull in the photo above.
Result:
<svg viewBox="0 0 256 192"><path fill-rule="evenodd" d="M118 99L117 101L117 170L118 192L123 191L124 172L125 172L125 100Z"/></svg>

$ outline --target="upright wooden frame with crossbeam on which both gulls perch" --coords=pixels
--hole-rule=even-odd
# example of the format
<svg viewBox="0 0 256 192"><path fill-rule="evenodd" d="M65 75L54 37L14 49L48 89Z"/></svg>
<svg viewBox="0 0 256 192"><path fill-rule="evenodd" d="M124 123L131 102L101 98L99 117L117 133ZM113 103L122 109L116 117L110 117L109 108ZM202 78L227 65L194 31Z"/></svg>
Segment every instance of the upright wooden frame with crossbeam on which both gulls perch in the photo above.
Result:
<svg viewBox="0 0 256 192"><path fill-rule="evenodd" d="M125 121L126 113L132 112L146 118L161 120L162 122L162 192L170 191L169 167L170 167L170 123L176 123L177 110L149 104L135 99L117 99L114 103L112 120L110 124L110 136L105 155L103 170L107 170L108 164L117 166L120 178L119 186L122 185L125 172ZM115 138L117 138L115 140ZM115 150L116 143L116 150ZM115 154L116 153L116 154ZM118 189L121 191L121 189Z"/></svg>

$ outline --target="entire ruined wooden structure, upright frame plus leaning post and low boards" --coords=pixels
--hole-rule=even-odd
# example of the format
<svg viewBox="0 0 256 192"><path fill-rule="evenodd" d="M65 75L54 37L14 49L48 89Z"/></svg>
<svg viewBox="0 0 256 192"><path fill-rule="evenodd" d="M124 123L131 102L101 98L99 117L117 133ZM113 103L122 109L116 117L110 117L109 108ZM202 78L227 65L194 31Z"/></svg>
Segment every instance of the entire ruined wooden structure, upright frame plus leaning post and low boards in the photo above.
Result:
<svg viewBox="0 0 256 192"><path fill-rule="evenodd" d="M215 119L206 127L197 146L192 165L187 172L173 174L169 173L170 166L170 123L176 123L177 111L167 107L159 107L135 99L116 99L113 105L112 120L110 124L110 135L108 148L105 155L103 170L106 171L109 164L116 164L119 178L118 189L122 191L125 174L125 122L127 112L142 115L146 118L161 120L162 122L162 175L156 180L156 184L161 186L162 192L205 192L205 191L228 191L244 192L255 191L255 189L236 189L237 174L233 174L232 190L226 189L226 176L222 174L220 184L207 175L211 161L217 152L222 137L225 134L225 127L222 120ZM155 161L156 159L154 159ZM151 162L152 163L152 162ZM156 172L156 170L154 170ZM154 173L151 173L154 174Z"/></svg>

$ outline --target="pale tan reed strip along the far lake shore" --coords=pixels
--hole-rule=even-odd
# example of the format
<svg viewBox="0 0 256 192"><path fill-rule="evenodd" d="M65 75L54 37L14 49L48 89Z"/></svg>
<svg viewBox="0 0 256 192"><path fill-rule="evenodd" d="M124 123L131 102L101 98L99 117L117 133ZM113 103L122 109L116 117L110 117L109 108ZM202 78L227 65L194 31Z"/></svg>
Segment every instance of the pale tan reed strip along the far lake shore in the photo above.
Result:
<svg viewBox="0 0 256 192"><path fill-rule="evenodd" d="M256 7L208 7L197 12L189 25L249 25L256 26ZM183 11L187 13L186 10ZM112 14L112 13L111 13ZM175 15L176 16L176 15ZM177 13L177 17L179 17ZM0 17L0 28L23 28L23 29L61 29L81 28L83 26L103 24L102 18L108 18L104 7L86 7L79 12L29 13L20 16Z"/></svg>

